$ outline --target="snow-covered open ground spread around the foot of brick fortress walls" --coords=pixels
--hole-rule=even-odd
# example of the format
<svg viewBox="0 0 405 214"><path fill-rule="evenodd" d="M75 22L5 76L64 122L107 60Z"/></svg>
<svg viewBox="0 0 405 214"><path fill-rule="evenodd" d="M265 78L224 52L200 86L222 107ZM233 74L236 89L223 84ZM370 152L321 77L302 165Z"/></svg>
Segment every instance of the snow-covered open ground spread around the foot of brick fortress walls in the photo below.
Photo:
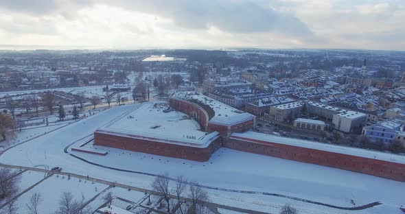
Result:
<svg viewBox="0 0 405 214"><path fill-rule="evenodd" d="M126 105L111 108L66 128L40 136L30 143L13 147L0 156L0 163L29 167L58 165L63 168L63 171L150 189L150 182L153 179L151 176L97 167L69 156L63 151L71 143L89 136L100 126L113 121L134 107L135 105ZM172 177L183 175L189 180L210 187L281 193L337 206L351 206L349 202L351 199L358 205L375 201L383 203L382 206L365 211L340 211L268 195L208 190L213 202L265 212L277 210L277 208L271 209L271 206L290 203L296 204L297 209L303 211L302 213L320 211L318 213L395 214L400 213L398 207L404 203L404 182L224 148L213 154L206 163L111 148L108 150L110 152L107 156L80 152L72 152L72 154L119 169L151 174L168 172ZM47 157L44 155L45 152Z"/></svg>

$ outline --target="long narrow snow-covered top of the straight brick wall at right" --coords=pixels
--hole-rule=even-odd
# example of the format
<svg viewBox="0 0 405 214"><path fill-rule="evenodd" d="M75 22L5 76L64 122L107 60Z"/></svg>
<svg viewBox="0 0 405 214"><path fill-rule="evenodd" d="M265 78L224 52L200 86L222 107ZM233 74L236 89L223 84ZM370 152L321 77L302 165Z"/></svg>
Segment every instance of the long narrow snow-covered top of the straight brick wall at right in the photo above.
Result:
<svg viewBox="0 0 405 214"><path fill-rule="evenodd" d="M243 133L233 133L232 137L243 137L247 139L255 139L259 141L268 141L269 143L281 143L285 145L294 145L298 147L306 147L314 150L322 150L327 152L336 152L340 154L349 154L352 156L360 156L364 158L373 158L378 160L385 160L393 163L405 164L405 156L391 154L387 152L378 152L372 150L364 150L354 147L345 147L340 145L331 145L327 143L318 143L315 141L305 141L301 139L292 139L284 136L277 136L272 134L264 134L259 132L243 132ZM237 139L236 138L236 139Z"/></svg>

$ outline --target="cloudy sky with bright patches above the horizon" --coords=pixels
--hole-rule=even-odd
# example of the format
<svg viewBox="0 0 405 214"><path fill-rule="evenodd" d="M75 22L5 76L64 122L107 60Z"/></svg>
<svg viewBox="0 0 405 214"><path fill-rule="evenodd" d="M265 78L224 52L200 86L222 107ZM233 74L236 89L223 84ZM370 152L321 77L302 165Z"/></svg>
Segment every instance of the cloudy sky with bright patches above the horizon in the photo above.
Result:
<svg viewBox="0 0 405 214"><path fill-rule="evenodd" d="M0 45L405 50L405 1L0 0Z"/></svg>

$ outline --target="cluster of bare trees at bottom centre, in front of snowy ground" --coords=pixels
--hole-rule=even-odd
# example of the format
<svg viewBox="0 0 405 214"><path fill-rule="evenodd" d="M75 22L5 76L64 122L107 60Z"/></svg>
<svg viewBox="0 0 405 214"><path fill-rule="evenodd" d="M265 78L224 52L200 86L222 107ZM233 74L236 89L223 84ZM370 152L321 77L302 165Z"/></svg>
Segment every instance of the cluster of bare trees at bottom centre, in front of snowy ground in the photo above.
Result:
<svg viewBox="0 0 405 214"><path fill-rule="evenodd" d="M152 182L152 189L157 191L165 200L167 213L172 213L170 209L171 204L175 206L176 203L181 205L186 202L183 198L185 196L190 199L191 204L188 206L188 210L185 210L186 206L178 206L178 210L180 210L182 214L207 213L206 205L209 198L207 192L198 186L198 183L188 182L183 176L178 176L175 182L174 189L172 190L175 195L170 194L170 178L168 174L161 174ZM171 203L171 198L174 200L174 204Z"/></svg>

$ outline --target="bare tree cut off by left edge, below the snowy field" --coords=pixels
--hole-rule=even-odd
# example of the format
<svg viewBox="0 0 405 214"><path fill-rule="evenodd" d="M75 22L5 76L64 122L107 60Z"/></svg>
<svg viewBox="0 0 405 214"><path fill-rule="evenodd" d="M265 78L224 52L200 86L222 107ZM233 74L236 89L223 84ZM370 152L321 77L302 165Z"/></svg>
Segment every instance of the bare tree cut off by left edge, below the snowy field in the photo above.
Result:
<svg viewBox="0 0 405 214"><path fill-rule="evenodd" d="M10 168L0 168L0 201L12 198L19 191L21 175Z"/></svg>

